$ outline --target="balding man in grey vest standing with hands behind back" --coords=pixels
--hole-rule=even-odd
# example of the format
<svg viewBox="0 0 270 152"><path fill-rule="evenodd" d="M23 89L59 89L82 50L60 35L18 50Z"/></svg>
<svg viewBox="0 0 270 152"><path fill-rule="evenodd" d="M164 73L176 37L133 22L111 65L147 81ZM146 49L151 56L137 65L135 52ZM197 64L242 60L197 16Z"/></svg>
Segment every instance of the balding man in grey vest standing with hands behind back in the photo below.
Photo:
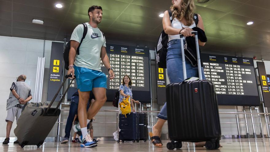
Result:
<svg viewBox="0 0 270 152"><path fill-rule="evenodd" d="M21 115L22 107L25 103L32 99L32 94L29 85L25 83L26 76L20 75L16 78L16 82L13 82L10 88L10 96L6 103L6 139L3 144L8 144L10 142L10 130L13 121L16 116L16 121ZM18 143L18 140L14 143Z"/></svg>

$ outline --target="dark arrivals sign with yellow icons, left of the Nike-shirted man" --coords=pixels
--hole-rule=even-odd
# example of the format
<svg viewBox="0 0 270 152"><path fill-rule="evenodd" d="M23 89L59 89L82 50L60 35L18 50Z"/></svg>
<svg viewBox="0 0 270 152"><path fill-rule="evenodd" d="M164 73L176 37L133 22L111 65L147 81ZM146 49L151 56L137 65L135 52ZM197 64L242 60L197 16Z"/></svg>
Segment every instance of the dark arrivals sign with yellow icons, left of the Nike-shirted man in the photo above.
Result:
<svg viewBox="0 0 270 152"><path fill-rule="evenodd" d="M62 82L64 43L52 42L47 101L52 101ZM60 101L60 93L55 101Z"/></svg>

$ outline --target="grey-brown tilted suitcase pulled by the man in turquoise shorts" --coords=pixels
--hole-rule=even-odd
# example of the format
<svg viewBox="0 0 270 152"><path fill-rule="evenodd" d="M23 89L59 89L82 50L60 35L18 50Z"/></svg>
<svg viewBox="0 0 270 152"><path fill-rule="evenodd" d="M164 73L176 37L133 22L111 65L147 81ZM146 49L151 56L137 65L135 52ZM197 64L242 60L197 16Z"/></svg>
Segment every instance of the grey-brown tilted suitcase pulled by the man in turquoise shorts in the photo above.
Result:
<svg viewBox="0 0 270 152"><path fill-rule="evenodd" d="M58 109L58 107L64 99L70 85L64 92L64 95L56 108L51 107L52 103L55 101L60 89L69 76L65 76L63 83L52 99L50 105L48 105L48 103L28 103L24 106L21 116L17 121L17 127L14 130L19 145L22 148L26 145L37 145L37 147L40 147L43 144L45 138L59 118L60 109Z"/></svg>

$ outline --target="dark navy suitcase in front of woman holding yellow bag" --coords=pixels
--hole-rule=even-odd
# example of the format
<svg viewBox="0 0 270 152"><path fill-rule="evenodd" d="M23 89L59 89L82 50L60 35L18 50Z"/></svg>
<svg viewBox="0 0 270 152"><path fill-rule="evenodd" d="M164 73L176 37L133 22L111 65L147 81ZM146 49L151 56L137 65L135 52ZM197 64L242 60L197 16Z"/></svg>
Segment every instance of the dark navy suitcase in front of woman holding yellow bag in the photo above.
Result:
<svg viewBox="0 0 270 152"><path fill-rule="evenodd" d="M117 142L132 141L139 142L139 114L131 112L130 114L119 114L119 139Z"/></svg>

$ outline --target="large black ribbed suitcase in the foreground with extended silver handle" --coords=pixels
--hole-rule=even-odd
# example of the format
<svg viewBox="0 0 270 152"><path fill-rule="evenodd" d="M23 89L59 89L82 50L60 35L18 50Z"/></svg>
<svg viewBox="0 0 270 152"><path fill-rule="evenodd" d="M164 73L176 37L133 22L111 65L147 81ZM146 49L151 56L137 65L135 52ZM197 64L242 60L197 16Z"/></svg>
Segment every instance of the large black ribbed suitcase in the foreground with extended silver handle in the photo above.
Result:
<svg viewBox="0 0 270 152"><path fill-rule="evenodd" d="M221 129L215 88L212 82L201 79L198 35L197 32L193 33L195 33L200 80L168 84L166 87L168 132L172 140L168 142L167 148L170 150L181 148L181 142L184 141L206 141L207 149L219 148ZM183 35L181 35L181 44L183 44ZM183 55L182 58L184 63ZM185 64L183 69L186 72L184 66ZM186 79L185 73L184 79Z"/></svg>

